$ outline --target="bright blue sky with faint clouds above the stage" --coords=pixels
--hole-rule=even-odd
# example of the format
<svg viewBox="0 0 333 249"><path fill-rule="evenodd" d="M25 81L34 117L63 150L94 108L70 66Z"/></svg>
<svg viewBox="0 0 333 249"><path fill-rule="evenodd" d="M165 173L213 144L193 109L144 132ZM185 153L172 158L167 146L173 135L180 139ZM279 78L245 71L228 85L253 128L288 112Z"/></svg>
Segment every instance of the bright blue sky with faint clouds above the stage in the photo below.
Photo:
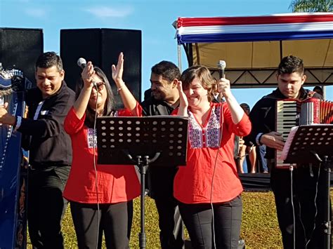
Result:
<svg viewBox="0 0 333 249"><path fill-rule="evenodd" d="M116 28L142 31L142 89L150 87L150 68L161 60L177 63L178 17L214 17L290 13L292 0L0 0L0 27L39 28L44 51L60 53L60 29ZM183 69L187 67L185 55ZM126 55L125 55L126 58ZM76 62L73 62L76 63ZM228 62L227 62L228 65ZM270 88L234 89L238 102L253 107ZM333 86L326 88L333 100Z"/></svg>

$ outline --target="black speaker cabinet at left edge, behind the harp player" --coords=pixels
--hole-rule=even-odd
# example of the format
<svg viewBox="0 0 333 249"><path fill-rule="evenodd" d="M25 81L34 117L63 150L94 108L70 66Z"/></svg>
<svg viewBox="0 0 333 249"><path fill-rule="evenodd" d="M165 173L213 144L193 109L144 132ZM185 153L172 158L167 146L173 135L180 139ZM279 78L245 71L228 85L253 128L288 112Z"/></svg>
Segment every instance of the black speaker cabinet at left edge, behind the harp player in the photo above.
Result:
<svg viewBox="0 0 333 249"><path fill-rule="evenodd" d="M0 62L19 69L35 85L34 64L43 53L43 29L0 28Z"/></svg>

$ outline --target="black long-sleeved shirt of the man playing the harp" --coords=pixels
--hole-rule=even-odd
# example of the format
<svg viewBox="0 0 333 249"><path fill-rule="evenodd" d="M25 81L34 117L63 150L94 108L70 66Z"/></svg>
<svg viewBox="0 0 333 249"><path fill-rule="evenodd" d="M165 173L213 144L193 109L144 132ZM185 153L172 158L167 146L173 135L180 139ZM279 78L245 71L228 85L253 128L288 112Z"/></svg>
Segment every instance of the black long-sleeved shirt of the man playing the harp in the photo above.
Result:
<svg viewBox="0 0 333 249"><path fill-rule="evenodd" d="M27 147L32 166L69 166L72 163L70 136L65 133L63 123L67 112L74 104L75 93L65 81L57 93L43 100L41 90L28 90L26 103L29 107L27 119L22 119L18 131L30 135ZM34 120L39 103L44 101Z"/></svg>

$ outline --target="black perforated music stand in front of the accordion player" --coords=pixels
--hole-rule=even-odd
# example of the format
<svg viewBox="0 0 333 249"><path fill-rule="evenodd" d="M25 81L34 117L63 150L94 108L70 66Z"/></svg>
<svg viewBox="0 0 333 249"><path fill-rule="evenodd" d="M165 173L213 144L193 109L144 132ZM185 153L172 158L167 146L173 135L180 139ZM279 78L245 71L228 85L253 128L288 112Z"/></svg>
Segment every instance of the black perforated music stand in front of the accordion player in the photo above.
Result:
<svg viewBox="0 0 333 249"><path fill-rule="evenodd" d="M322 163L325 173L325 248L330 249L331 217L329 215L329 187L331 175L331 159L333 156L333 125L315 124L299 126L294 134L285 163Z"/></svg>

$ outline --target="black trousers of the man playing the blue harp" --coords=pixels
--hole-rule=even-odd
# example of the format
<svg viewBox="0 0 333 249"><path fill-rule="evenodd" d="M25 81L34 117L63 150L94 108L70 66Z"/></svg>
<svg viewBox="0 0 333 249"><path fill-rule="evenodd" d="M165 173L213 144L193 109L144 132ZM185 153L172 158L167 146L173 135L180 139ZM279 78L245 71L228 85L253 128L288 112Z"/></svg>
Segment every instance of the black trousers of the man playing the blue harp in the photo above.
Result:
<svg viewBox="0 0 333 249"><path fill-rule="evenodd" d="M63 198L70 166L29 170L27 221L33 248L64 248L61 220L67 208Z"/></svg>

